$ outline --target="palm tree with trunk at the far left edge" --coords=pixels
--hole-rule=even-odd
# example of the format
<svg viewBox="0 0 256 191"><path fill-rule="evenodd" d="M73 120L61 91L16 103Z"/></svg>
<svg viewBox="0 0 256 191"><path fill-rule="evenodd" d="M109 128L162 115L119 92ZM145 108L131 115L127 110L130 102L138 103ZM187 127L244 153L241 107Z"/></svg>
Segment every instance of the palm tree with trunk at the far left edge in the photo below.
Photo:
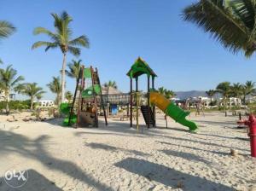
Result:
<svg viewBox="0 0 256 191"><path fill-rule="evenodd" d="M17 71L12 68L12 65L6 69L0 69L0 89L4 92L6 102L6 114L9 114L9 95L12 90L16 91L16 87L20 81L24 80L22 76L17 76Z"/></svg>

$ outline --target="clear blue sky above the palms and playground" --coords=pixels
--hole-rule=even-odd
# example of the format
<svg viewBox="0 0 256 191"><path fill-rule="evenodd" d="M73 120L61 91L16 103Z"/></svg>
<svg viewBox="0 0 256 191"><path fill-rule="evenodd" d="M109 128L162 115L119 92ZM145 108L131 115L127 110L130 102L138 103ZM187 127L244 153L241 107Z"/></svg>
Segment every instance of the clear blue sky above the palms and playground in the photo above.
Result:
<svg viewBox="0 0 256 191"><path fill-rule="evenodd" d="M46 84L59 75L62 55L58 49L32 50L32 43L48 40L33 36L36 26L53 30L50 13L67 10L73 17L73 37L85 34L90 49L79 57L86 66L98 67L102 83L115 80L119 89L129 90L129 70L142 56L158 74L156 87L170 90L209 90L219 82L255 80L256 59L233 55L208 34L184 22L181 11L195 0L2 0L0 19L9 20L17 32L0 42L0 57L12 64L26 82ZM67 61L73 59L67 55ZM75 82L67 78L67 90ZM146 77L140 79L145 90ZM53 98L48 92L44 98Z"/></svg>

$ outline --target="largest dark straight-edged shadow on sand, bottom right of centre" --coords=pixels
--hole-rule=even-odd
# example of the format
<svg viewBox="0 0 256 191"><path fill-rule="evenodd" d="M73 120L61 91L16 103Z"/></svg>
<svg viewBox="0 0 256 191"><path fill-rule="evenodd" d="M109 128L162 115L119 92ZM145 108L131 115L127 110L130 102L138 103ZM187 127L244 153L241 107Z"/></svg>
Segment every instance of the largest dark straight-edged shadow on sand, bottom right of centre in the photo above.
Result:
<svg viewBox="0 0 256 191"><path fill-rule="evenodd" d="M165 165L159 165L144 159L127 158L119 161L115 166L145 177L148 181L160 182L167 187L180 188L185 191L233 191L235 189L223 184L195 177L181 171L176 171Z"/></svg>

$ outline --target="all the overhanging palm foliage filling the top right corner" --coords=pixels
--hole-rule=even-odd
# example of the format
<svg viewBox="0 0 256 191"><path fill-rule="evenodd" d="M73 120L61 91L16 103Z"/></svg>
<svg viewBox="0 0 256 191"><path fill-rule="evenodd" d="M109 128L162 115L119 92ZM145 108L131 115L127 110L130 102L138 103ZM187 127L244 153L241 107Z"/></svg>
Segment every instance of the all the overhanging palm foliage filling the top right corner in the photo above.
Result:
<svg viewBox="0 0 256 191"><path fill-rule="evenodd" d="M183 19L195 23L233 53L250 57L256 49L254 0L200 0L183 9Z"/></svg>

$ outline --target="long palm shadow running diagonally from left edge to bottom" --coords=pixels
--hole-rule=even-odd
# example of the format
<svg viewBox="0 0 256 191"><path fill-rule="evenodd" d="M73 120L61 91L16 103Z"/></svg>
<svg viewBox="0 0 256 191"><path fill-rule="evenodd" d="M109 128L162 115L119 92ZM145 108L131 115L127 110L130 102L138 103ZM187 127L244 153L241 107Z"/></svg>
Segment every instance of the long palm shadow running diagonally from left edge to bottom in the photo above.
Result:
<svg viewBox="0 0 256 191"><path fill-rule="evenodd" d="M3 139L4 137L8 137L8 139ZM107 185L97 182L93 177L87 175L78 165L51 156L50 153L44 149L44 144L47 142L49 142L49 136L46 135L39 136L37 139L32 140L14 132L0 130L0 155L20 153L20 155L25 158L37 160L51 171L60 171L68 177L73 177L93 188L99 190L113 190Z"/></svg>

